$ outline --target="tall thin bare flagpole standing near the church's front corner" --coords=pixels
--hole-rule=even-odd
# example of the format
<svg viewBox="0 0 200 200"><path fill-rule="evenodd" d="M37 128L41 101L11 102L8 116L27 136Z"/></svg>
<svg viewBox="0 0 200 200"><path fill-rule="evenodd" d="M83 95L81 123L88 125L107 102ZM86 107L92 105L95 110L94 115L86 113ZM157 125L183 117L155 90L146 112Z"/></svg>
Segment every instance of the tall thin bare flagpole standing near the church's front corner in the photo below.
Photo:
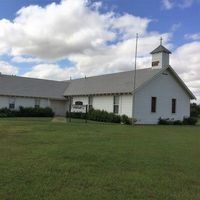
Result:
<svg viewBox="0 0 200 200"><path fill-rule="evenodd" d="M138 33L136 33L135 39L135 69L134 69L134 77L133 77L133 102L132 102L132 125L135 124L135 89L136 89L136 74L137 74L137 49L138 49Z"/></svg>

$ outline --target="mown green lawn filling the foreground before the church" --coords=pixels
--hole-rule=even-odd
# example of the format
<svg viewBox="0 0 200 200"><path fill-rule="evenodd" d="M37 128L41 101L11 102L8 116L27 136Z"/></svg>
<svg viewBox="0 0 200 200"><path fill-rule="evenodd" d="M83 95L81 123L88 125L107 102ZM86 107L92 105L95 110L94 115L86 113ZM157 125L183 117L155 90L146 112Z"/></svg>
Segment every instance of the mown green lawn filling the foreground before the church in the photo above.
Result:
<svg viewBox="0 0 200 200"><path fill-rule="evenodd" d="M0 119L0 200L199 200L200 126Z"/></svg>

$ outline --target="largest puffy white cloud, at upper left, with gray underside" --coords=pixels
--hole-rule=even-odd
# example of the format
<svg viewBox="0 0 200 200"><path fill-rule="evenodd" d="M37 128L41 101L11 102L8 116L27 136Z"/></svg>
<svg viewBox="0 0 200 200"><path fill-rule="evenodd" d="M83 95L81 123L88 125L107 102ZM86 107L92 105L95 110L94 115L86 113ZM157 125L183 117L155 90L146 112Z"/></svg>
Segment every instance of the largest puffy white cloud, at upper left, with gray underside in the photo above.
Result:
<svg viewBox="0 0 200 200"><path fill-rule="evenodd" d="M137 32L147 35L151 20L126 13L102 14L100 6L86 0L63 0L44 8L23 7L13 21L0 20L0 53L59 60L102 51L108 43L132 38Z"/></svg>

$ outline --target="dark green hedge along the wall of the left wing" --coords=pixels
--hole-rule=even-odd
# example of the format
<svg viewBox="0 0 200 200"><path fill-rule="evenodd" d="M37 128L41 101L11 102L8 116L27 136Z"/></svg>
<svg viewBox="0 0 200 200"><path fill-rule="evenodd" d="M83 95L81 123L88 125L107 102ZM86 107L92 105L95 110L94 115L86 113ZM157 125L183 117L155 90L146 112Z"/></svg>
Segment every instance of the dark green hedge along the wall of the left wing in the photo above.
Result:
<svg viewBox="0 0 200 200"><path fill-rule="evenodd" d="M0 117L53 117L54 112L51 108L24 108L19 110L10 110L8 108L0 109Z"/></svg>

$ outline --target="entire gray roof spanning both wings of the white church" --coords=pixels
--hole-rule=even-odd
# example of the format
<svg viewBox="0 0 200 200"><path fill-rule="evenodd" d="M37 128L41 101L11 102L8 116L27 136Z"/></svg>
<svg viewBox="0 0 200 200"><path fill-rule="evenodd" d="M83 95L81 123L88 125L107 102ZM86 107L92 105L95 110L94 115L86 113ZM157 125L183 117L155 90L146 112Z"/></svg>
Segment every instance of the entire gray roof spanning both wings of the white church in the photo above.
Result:
<svg viewBox="0 0 200 200"><path fill-rule="evenodd" d="M136 77L136 90L148 84L165 70L170 70L191 99L193 93L184 84L176 72L167 66L162 69L139 69ZM52 81L0 74L0 95L40 97L64 100L64 96L102 95L132 93L134 71L120 72L71 81Z"/></svg>

